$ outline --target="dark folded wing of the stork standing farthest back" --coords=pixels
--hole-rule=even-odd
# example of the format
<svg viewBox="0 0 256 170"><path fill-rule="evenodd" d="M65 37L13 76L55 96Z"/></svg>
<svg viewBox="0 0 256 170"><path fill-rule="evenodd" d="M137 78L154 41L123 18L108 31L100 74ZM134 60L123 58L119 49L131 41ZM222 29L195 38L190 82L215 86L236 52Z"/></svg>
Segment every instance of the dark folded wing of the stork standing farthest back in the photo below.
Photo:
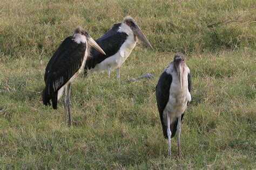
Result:
<svg viewBox="0 0 256 170"><path fill-rule="evenodd" d="M90 55L86 59L85 74L88 69L94 68L98 63L106 58L116 54L127 38L124 32L118 32L121 23L115 24L112 29L96 40L97 44L103 49L106 55L99 53L96 49L91 48Z"/></svg>

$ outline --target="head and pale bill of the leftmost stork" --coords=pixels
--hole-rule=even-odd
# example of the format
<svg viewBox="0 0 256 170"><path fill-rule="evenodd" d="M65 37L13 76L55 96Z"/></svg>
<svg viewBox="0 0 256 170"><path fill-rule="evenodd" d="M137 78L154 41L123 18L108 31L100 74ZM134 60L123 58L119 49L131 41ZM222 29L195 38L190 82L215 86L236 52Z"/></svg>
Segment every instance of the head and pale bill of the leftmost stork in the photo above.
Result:
<svg viewBox="0 0 256 170"><path fill-rule="evenodd" d="M100 46L97 44L97 42L95 42L95 40L93 40L91 38L91 36L89 36L89 34L81 26L78 26L75 29L75 31L73 32L73 36L76 35L76 34L80 34L82 36L85 36L89 47L95 48L98 52L106 55L106 53L103 51L102 48L100 48Z"/></svg>

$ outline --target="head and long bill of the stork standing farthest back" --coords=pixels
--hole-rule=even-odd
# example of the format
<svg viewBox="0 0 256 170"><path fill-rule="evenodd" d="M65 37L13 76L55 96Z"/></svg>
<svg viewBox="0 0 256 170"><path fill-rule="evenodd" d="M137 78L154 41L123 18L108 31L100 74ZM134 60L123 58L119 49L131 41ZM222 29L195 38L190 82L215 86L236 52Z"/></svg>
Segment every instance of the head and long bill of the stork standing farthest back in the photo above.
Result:
<svg viewBox="0 0 256 170"><path fill-rule="evenodd" d="M130 26L130 28L132 29L134 35L136 37L138 37L140 40L142 40L151 49L153 49L153 47L150 44L149 40L147 40L147 38L143 34L142 30L140 30L140 27L137 25L136 21L132 17L130 17L130 16L125 17L123 23L125 23L128 26Z"/></svg>

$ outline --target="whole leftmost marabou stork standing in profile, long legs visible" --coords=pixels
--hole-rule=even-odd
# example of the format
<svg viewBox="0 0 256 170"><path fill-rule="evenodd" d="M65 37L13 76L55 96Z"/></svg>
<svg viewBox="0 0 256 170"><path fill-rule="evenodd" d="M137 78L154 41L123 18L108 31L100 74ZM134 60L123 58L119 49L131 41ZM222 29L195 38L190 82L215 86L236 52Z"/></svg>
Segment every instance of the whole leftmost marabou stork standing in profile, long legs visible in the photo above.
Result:
<svg viewBox="0 0 256 170"><path fill-rule="evenodd" d="M72 124L70 109L71 82L83 70L90 47L105 54L102 48L93 40L80 26L76 28L72 36L66 38L52 55L45 68L43 90L43 103L57 109L57 102L63 94L65 105L65 116L69 113L69 126ZM68 88L68 94L67 94Z"/></svg>

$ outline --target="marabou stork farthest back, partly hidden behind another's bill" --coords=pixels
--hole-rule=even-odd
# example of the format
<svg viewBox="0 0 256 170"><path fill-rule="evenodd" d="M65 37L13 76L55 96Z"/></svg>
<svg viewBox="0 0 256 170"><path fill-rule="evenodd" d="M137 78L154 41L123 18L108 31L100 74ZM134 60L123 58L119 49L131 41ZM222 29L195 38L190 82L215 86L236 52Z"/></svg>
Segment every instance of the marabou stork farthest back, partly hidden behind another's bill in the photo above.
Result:
<svg viewBox="0 0 256 170"><path fill-rule="evenodd" d="M91 55L85 63L85 74L87 70L92 72L108 70L110 77L110 70L117 69L117 80L119 80L120 66L131 54L138 38L153 49L135 20L129 16L125 17L122 23L115 24L109 32L96 40L106 55L91 49Z"/></svg>

